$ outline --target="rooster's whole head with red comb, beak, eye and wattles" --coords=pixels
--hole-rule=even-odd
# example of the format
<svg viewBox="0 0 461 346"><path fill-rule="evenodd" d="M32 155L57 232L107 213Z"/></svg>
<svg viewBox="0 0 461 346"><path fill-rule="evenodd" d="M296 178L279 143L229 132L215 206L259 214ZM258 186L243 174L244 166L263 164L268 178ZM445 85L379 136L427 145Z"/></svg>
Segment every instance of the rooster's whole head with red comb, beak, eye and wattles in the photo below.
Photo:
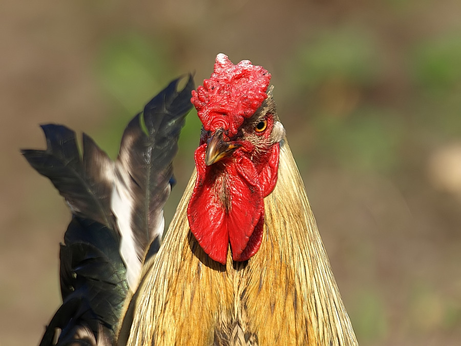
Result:
<svg viewBox="0 0 461 346"><path fill-rule="evenodd" d="M264 197L276 185L285 134L269 81L261 66L219 54L211 78L192 92L203 128L187 217L199 245L222 264L229 243L235 261L261 245Z"/></svg>

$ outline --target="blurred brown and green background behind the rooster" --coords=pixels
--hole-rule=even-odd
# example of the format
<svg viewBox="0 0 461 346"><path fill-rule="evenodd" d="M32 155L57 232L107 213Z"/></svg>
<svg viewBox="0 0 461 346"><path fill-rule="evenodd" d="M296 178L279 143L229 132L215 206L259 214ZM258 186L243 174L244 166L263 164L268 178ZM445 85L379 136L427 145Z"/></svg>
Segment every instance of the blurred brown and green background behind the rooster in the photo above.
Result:
<svg viewBox="0 0 461 346"><path fill-rule="evenodd" d="M461 343L461 2L4 0L0 32L0 345L38 344L70 220L19 148L59 123L115 158L146 101L220 52L273 75L359 342ZM167 219L199 128L191 112Z"/></svg>

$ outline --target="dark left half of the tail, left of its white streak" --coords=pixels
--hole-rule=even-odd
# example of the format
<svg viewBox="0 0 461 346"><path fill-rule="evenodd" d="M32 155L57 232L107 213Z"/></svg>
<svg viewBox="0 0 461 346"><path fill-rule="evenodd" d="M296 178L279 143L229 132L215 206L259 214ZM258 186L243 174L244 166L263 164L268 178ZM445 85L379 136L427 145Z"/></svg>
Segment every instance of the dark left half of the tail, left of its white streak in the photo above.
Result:
<svg viewBox="0 0 461 346"><path fill-rule="evenodd" d="M59 125L42 128L47 149L23 150L23 155L53 182L73 217L59 254L62 306L40 346L54 344L55 335L59 344L110 345L129 292L110 210L113 163L86 135L80 157L75 132Z"/></svg>

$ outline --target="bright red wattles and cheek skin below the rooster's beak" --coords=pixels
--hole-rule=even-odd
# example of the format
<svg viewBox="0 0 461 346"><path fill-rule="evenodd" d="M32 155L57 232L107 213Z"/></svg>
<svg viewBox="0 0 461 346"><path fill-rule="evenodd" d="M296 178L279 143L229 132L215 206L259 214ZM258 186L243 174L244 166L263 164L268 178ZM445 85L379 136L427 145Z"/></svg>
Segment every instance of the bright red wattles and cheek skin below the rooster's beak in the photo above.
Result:
<svg viewBox="0 0 461 346"><path fill-rule="evenodd" d="M269 131L268 126L265 134ZM197 181L187 207L192 233L205 253L222 264L229 242L236 261L247 260L259 250L264 197L277 182L279 144L252 161L253 145L238 143L242 147L211 166L205 165L206 144L196 150Z"/></svg>

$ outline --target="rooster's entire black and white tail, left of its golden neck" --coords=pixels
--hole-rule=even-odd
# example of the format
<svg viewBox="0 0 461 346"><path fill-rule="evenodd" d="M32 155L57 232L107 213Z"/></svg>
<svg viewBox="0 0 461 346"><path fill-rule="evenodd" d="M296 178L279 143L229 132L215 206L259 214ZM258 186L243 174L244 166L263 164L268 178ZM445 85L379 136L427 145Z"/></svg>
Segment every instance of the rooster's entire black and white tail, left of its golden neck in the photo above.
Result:
<svg viewBox="0 0 461 346"><path fill-rule="evenodd" d="M170 83L130 121L115 162L86 134L80 155L75 133L59 125L42 126L46 150L22 151L73 214L59 256L63 303L40 346L115 343L144 257L160 246L172 160L192 108L192 76L182 90L179 83Z"/></svg>

